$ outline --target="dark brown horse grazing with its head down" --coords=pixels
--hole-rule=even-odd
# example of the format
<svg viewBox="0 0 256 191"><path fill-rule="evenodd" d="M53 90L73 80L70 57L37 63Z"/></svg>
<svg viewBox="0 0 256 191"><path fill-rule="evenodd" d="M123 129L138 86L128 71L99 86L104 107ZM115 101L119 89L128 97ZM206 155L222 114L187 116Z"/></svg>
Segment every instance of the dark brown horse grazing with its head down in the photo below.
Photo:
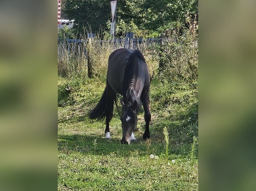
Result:
<svg viewBox="0 0 256 191"><path fill-rule="evenodd" d="M96 105L90 111L91 119L104 120L106 117L105 135L110 139L109 122L113 116L114 100L116 93L123 96L121 100L123 137L121 143L130 144L135 139L133 131L137 127L137 114L143 105L146 122L143 139L149 138L149 72L144 57L138 50L118 49L112 52L108 59L107 82L104 93Z"/></svg>

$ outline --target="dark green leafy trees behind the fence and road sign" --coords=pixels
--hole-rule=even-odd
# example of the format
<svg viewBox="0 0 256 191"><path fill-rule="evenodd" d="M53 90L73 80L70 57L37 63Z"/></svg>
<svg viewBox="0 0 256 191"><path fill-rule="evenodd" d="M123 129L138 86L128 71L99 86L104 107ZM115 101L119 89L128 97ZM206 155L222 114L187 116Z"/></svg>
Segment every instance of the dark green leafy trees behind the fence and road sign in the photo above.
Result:
<svg viewBox="0 0 256 191"><path fill-rule="evenodd" d="M121 37L132 31L136 37L152 36L165 31L173 22L185 22L187 12L198 13L198 0L118 0L116 34ZM108 35L112 21L110 1L65 0L63 13L68 19L75 19L74 34L77 31L85 37L91 31L111 37Z"/></svg>

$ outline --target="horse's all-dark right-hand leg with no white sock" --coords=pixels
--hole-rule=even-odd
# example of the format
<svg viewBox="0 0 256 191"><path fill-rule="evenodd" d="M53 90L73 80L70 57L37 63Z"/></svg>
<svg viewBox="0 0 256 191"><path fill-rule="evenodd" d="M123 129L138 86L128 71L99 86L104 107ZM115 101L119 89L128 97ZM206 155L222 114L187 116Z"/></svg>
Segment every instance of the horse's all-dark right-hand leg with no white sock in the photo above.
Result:
<svg viewBox="0 0 256 191"><path fill-rule="evenodd" d="M145 122L146 122L146 128L145 128L145 131L144 131L144 134L143 134L143 139L146 140L150 137L150 133L149 133L149 122L151 120L151 114L150 114L150 111L149 111L149 96L148 96L148 92L145 93L142 97L141 97L141 102L142 102L142 105L143 105L143 108L144 108L144 111L145 111L145 114L144 114L144 119L145 119Z"/></svg>

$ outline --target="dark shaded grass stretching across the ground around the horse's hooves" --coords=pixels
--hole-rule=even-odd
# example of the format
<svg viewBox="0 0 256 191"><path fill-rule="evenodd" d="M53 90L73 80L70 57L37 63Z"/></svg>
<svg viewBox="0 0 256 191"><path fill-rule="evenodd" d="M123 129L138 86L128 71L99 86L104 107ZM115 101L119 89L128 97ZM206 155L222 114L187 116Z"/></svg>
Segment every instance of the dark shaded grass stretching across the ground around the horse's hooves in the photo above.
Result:
<svg viewBox="0 0 256 191"><path fill-rule="evenodd" d="M76 110L71 111L70 118L63 118L64 122L69 121L69 123L77 123L79 121L85 121L86 126L92 128L89 123L93 123L93 120L89 119L87 116L87 110L85 109L85 105L81 104ZM75 113L77 111L77 113ZM175 154L188 154L191 150L191 144L193 143L193 136L198 137L198 112L197 105L192 105L191 108L188 109L186 113L182 113L180 116L183 120L178 120L170 115L166 116L157 116L153 119L150 124L150 140L151 145L149 147L149 153L165 153L164 147L164 136L163 136L163 128L167 127L169 133L169 153ZM153 115L152 115L153 116ZM114 117L112 120L118 120L119 116L117 113L114 113ZM152 117L153 118L153 117ZM58 136L58 149L61 151L78 151L82 153L90 153L96 155L106 155L111 152L118 152L121 155L130 155L134 150L138 150L140 155L145 155L147 152L147 146L145 141L142 140L142 134L144 132L144 118L143 115L140 114L140 123L142 124L138 128L136 132L136 141L132 141L130 145L121 144L121 127L116 129L115 134L117 136L112 136L112 139L106 140L99 133L94 132L91 129L90 134L60 134ZM116 124L115 124L116 125ZM105 125L103 125L105 126ZM97 127L95 123L93 127ZM70 127L71 128L71 127ZM98 127L96 128L98 129ZM96 142L95 142L96 140Z"/></svg>

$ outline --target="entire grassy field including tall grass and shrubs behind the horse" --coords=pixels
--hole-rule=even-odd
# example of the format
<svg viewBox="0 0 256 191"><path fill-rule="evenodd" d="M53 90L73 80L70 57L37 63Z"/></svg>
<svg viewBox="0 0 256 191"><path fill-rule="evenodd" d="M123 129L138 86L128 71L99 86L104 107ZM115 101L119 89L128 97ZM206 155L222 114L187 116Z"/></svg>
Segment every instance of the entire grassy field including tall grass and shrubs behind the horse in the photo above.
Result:
<svg viewBox="0 0 256 191"><path fill-rule="evenodd" d="M136 141L121 144L116 106L110 122L88 118L106 84L109 44L92 41L87 49L93 64L75 52L58 57L58 190L198 190L198 37L171 37L163 46L139 47L155 73L150 85L150 139L142 140L143 109L138 114ZM160 67L161 63L161 67ZM67 92L65 88L73 88ZM121 107L118 98L118 107Z"/></svg>

